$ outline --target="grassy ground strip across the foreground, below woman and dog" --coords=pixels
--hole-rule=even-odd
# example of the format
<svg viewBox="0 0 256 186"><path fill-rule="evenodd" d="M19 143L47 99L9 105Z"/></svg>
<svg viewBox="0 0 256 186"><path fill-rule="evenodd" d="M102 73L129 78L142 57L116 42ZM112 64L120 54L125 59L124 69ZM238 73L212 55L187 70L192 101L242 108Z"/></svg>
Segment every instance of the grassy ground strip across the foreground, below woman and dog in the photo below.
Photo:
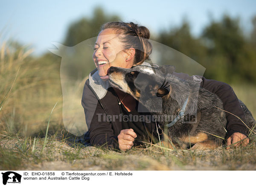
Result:
<svg viewBox="0 0 256 186"><path fill-rule="evenodd" d="M157 146L116 152L68 145L50 136L0 136L1 170L256 170L256 140L226 150L159 150Z"/></svg>

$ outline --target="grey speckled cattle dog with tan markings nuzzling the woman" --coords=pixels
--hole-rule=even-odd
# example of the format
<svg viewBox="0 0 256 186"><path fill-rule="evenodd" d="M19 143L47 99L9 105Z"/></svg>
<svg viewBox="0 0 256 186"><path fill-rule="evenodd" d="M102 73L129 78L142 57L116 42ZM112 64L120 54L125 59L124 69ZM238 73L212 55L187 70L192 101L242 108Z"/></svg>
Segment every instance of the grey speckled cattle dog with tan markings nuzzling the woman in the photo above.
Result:
<svg viewBox="0 0 256 186"><path fill-rule="evenodd" d="M222 145L227 120L221 99L201 88L198 81L174 76L174 71L171 65L110 67L109 82L137 99L151 114L174 116L172 122L159 122L164 133L167 130L172 144L168 147L215 149ZM252 128L256 122L244 103L239 102L246 114L245 123ZM193 122L184 122L184 116L194 116Z"/></svg>

